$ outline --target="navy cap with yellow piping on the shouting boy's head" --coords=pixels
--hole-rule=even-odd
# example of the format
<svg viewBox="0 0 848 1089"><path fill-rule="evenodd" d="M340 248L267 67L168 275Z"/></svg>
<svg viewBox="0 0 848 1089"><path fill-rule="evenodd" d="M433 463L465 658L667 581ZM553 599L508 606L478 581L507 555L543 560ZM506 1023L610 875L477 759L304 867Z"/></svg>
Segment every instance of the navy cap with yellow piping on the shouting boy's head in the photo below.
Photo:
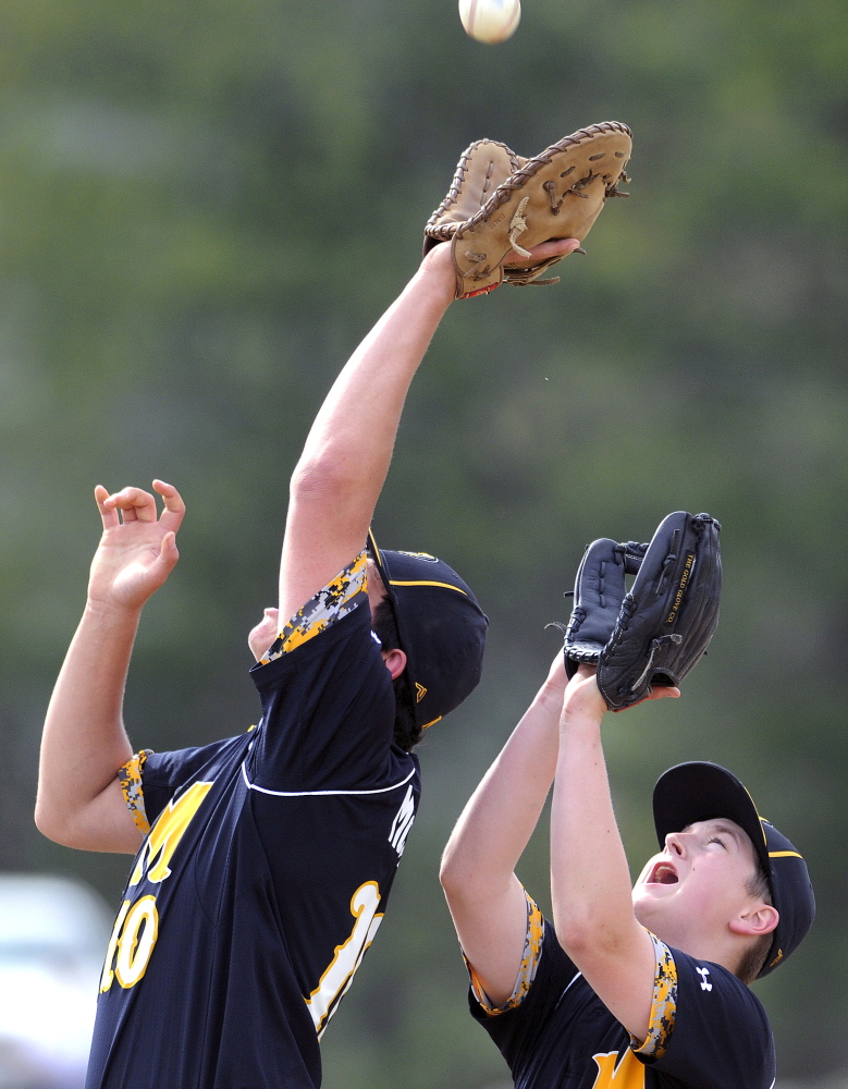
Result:
<svg viewBox="0 0 848 1089"><path fill-rule="evenodd" d="M753 798L726 768L708 761L669 768L653 792L653 817L660 845L669 832L701 820L725 817L743 829L769 877L772 904L781 920L758 979L767 976L798 949L812 926L815 900L807 862L774 824L757 811Z"/></svg>

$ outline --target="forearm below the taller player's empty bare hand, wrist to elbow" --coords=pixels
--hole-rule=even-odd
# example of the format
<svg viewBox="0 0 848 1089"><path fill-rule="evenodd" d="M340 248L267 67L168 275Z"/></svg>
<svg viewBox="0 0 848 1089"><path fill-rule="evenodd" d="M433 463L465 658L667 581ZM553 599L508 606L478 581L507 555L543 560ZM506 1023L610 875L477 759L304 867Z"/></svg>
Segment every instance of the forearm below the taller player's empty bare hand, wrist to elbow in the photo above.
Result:
<svg viewBox="0 0 848 1089"><path fill-rule="evenodd" d="M86 807L132 756L122 705L140 610L86 605L45 719L36 823L74 842Z"/></svg>

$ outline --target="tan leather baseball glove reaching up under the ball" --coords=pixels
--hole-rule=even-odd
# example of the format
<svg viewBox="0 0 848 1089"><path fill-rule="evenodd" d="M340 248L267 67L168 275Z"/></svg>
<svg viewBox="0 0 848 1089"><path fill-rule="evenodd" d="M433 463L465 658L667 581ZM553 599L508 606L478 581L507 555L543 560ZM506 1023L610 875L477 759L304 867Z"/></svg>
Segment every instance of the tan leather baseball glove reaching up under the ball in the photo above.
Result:
<svg viewBox="0 0 848 1089"><path fill-rule="evenodd" d="M609 197L625 197L631 135L627 125L604 121L581 129L545 148L534 159L505 144L481 139L463 152L447 191L425 228L423 252L450 242L456 269L456 297L470 298L500 283L557 283L539 280L562 260L504 267L507 257L551 238L589 233ZM580 250L585 252L585 250Z"/></svg>

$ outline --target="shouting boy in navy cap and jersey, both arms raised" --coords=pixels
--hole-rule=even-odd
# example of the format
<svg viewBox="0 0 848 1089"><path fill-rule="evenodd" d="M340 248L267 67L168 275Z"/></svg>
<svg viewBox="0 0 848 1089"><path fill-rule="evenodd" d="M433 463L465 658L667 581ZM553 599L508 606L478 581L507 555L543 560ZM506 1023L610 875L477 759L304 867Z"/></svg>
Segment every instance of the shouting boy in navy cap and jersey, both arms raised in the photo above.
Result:
<svg viewBox="0 0 848 1089"><path fill-rule="evenodd" d="M471 1013L520 1089L772 1089L747 984L807 933L807 866L730 772L692 762L656 784L662 851L631 890L605 711L593 668L568 682L558 654L451 836L441 877ZM546 921L514 869L552 783Z"/></svg>

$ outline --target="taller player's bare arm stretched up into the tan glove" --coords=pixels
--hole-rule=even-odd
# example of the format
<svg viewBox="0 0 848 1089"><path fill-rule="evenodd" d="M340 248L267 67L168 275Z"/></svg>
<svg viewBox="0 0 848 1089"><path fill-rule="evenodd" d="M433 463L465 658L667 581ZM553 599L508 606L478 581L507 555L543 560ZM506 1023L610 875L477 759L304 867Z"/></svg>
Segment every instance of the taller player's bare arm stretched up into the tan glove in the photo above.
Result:
<svg viewBox="0 0 848 1089"><path fill-rule="evenodd" d="M533 259L567 254L545 243ZM280 566L280 622L357 555L392 458L409 384L454 297L448 245L437 246L336 378L290 488Z"/></svg>

